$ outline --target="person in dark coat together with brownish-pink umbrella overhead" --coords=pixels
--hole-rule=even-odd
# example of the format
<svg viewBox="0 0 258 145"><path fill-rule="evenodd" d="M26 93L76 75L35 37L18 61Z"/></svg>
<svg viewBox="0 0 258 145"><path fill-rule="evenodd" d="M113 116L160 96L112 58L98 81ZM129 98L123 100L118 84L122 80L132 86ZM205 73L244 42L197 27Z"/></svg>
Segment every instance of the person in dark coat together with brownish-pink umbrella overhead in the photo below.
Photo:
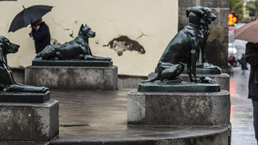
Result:
<svg viewBox="0 0 258 145"><path fill-rule="evenodd" d="M252 99L254 133L258 144L258 20L247 23L234 33L235 39L248 41L245 50L245 59L251 65L248 98Z"/></svg>

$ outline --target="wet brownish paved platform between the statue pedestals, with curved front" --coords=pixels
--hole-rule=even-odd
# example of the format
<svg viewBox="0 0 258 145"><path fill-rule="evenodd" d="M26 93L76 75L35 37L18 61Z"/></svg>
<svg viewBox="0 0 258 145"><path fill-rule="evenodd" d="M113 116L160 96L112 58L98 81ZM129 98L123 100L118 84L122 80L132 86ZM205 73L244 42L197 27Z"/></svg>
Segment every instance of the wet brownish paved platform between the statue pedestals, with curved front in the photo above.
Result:
<svg viewBox="0 0 258 145"><path fill-rule="evenodd" d="M52 144L178 141L181 138L189 142L199 138L214 140L222 134L228 137L227 127L127 125L127 93L130 90L52 90L51 98L60 101L60 138Z"/></svg>

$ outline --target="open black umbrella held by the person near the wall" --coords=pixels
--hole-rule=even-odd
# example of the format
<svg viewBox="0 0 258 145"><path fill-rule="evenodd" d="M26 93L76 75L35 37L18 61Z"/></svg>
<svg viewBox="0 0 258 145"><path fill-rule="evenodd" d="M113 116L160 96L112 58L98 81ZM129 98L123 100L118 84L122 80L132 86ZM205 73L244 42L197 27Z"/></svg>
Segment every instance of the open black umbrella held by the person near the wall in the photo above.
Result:
<svg viewBox="0 0 258 145"><path fill-rule="evenodd" d="M14 32L23 27L27 27L31 23L42 18L46 13L50 12L52 8L52 6L44 5L35 5L24 8L23 11L15 16L8 32Z"/></svg>

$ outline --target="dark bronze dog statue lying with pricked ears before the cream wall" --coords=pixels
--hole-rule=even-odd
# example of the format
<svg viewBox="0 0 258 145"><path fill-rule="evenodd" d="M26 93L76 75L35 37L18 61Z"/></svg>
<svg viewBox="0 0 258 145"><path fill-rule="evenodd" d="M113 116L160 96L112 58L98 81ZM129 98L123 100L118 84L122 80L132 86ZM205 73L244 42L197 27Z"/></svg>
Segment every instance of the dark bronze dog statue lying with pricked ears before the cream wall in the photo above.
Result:
<svg viewBox="0 0 258 145"><path fill-rule="evenodd" d="M83 59L110 61L111 58L96 57L91 54L88 44L90 37L95 37L95 32L89 26L82 24L78 36L74 40L63 45L48 45L36 57L42 57L43 60Z"/></svg>

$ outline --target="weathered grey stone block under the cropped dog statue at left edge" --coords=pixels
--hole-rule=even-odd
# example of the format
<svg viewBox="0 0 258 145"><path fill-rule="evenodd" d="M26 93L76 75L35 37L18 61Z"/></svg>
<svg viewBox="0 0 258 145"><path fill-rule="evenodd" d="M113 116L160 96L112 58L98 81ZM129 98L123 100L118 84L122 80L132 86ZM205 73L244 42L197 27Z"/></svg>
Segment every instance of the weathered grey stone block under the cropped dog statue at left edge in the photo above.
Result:
<svg viewBox="0 0 258 145"><path fill-rule="evenodd" d="M1 141L50 141L59 134L59 102L0 103Z"/></svg>

